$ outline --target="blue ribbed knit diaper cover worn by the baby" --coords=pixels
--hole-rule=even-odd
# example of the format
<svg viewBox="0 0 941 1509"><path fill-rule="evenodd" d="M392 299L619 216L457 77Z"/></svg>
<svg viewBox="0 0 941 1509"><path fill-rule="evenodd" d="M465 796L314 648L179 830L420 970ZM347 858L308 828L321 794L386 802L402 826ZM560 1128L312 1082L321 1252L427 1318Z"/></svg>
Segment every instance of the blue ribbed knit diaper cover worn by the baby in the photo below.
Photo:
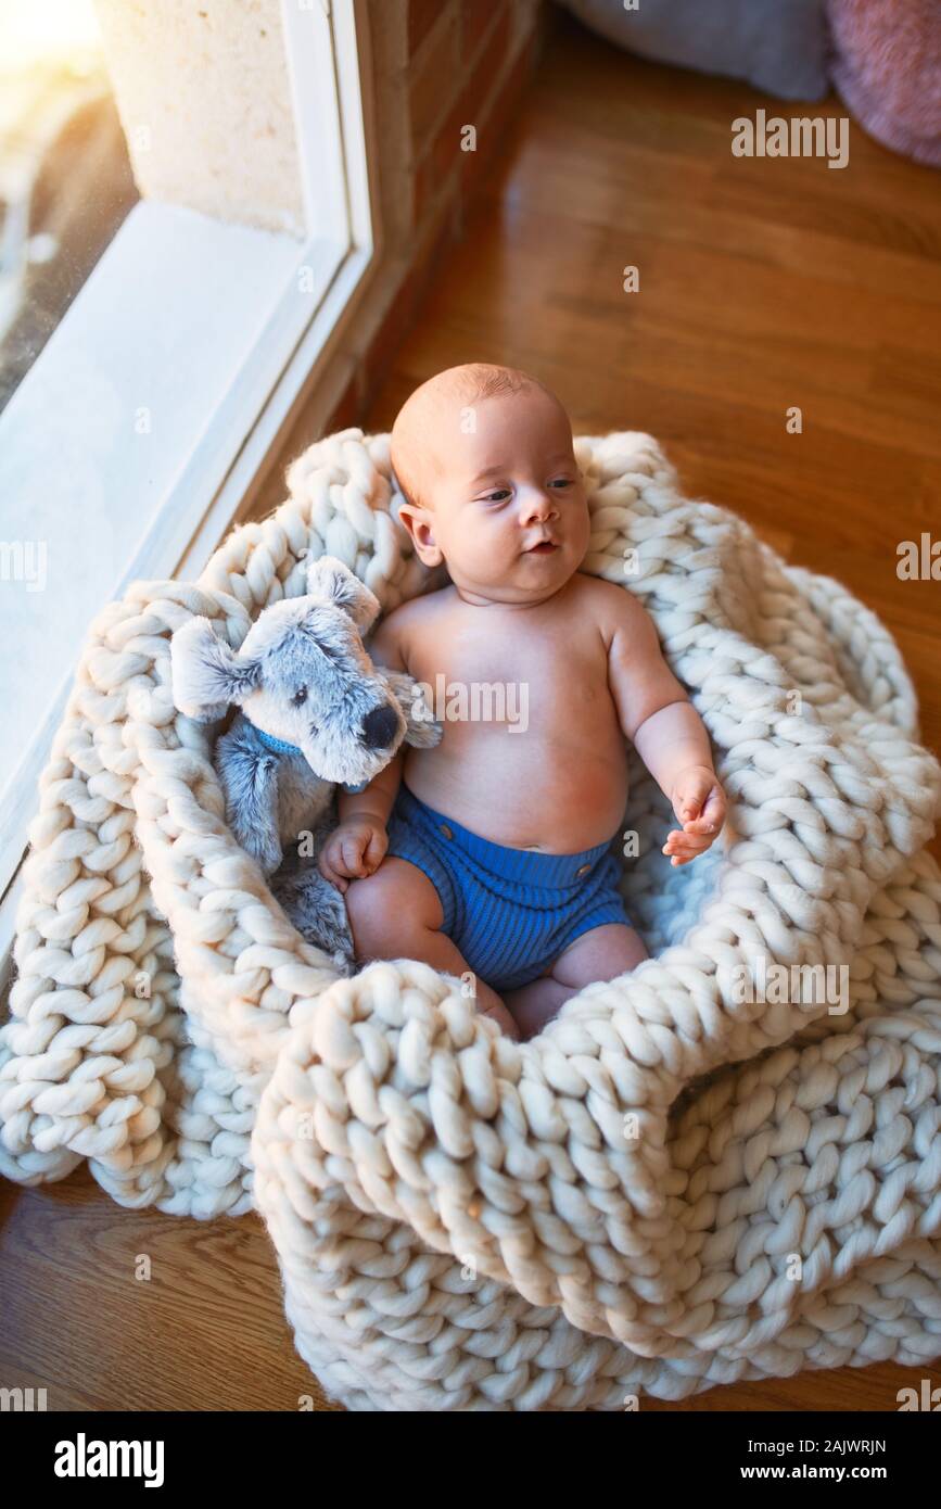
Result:
<svg viewBox="0 0 941 1509"><path fill-rule="evenodd" d="M538 979L590 928L630 927L612 839L582 854L507 848L436 812L404 782L388 833L386 854L428 877L445 913L440 931L493 990Z"/></svg>

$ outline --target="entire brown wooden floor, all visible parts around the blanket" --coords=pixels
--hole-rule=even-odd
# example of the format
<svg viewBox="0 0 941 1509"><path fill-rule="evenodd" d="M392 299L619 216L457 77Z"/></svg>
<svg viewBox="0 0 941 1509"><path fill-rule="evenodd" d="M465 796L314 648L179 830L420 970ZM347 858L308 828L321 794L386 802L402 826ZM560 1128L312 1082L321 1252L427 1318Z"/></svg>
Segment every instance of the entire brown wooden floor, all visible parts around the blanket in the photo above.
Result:
<svg viewBox="0 0 941 1509"><path fill-rule="evenodd" d="M555 388L576 433L651 432L689 495L885 619L938 748L941 584L900 582L896 548L941 539L939 178L855 128L843 171L733 158L731 121L762 104L561 18L366 427L389 429L431 373L498 361ZM786 433L795 404L802 435ZM296 1409L312 1391L255 1219L121 1210L87 1174L0 1198L0 1382L83 1409ZM921 1376L941 1382L876 1366L642 1408L893 1411Z"/></svg>

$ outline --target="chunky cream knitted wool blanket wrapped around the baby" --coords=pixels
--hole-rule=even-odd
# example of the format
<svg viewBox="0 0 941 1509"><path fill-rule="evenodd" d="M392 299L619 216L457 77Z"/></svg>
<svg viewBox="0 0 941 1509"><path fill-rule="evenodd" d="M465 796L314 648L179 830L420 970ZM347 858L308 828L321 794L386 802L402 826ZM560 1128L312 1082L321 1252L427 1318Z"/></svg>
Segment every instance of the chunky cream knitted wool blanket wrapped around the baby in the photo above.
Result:
<svg viewBox="0 0 941 1509"><path fill-rule="evenodd" d="M0 1168L87 1157L121 1204L256 1204L299 1351L354 1409L621 1409L941 1352L941 780L909 679L872 613L685 501L648 436L576 454L582 569L653 614L730 824L671 868L630 754L624 893L656 957L535 1041L425 964L336 979L170 700L173 629L205 614L238 646L303 592L305 552L386 610L437 584L395 524L388 436L312 445L199 582L106 608L41 782Z"/></svg>

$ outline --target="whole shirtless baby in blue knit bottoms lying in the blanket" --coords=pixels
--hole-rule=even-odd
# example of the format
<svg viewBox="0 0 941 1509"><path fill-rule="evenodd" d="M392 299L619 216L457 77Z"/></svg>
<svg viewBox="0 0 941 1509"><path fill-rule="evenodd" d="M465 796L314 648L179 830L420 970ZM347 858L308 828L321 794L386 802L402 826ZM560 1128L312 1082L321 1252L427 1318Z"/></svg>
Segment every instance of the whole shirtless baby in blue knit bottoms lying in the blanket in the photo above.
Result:
<svg viewBox="0 0 941 1509"><path fill-rule="evenodd" d="M431 688L517 688L526 720L445 712L436 748L339 795L320 869L345 892L357 960L470 972L478 1010L532 1037L647 957L617 889L624 736L682 824L674 865L715 841L725 798L653 620L579 570L588 502L543 383L481 362L439 373L400 410L392 466L415 551L451 584L391 613L369 653Z"/></svg>

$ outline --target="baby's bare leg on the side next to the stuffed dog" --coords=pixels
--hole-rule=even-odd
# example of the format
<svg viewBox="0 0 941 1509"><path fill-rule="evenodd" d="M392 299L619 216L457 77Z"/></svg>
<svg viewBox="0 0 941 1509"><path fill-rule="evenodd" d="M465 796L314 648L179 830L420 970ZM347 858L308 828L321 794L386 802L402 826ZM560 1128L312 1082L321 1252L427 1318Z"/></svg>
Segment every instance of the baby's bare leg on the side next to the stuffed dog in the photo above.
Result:
<svg viewBox="0 0 941 1509"><path fill-rule="evenodd" d="M470 966L446 933L437 890L424 871L398 854L386 854L379 869L351 880L345 890L356 958L418 958L424 964L464 975ZM477 978L477 1010L493 1017L501 1032L519 1038L516 1022L486 981Z"/></svg>

